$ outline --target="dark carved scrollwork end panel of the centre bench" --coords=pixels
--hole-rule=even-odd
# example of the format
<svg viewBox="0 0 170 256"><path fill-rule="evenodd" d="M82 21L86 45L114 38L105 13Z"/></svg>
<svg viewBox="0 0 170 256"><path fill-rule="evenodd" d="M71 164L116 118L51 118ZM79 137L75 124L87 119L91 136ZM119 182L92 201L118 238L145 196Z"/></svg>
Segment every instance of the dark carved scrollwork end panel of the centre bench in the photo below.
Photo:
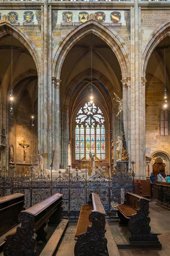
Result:
<svg viewBox="0 0 170 256"><path fill-rule="evenodd" d="M108 256L106 250L107 239L104 237L105 216L97 212L89 215L89 221L92 225L88 227L87 232L80 234L75 244L75 256Z"/></svg>

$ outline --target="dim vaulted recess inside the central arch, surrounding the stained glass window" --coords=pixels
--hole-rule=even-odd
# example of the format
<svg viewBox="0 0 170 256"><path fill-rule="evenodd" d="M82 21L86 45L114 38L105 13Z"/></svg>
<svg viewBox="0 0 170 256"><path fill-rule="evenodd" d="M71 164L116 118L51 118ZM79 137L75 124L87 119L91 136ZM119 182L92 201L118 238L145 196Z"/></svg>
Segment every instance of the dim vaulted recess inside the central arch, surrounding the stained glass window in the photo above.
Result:
<svg viewBox="0 0 170 256"><path fill-rule="evenodd" d="M119 118L115 117L114 93L122 98L121 67L113 50L99 36L94 34L84 36L76 42L69 53L67 53L62 64L60 78L61 134L64 134L66 130L70 131L69 137L61 139L62 164L65 167L67 166L67 148L70 140L72 166L80 166L81 157L76 159L75 155L76 115L79 109L83 108L83 106L89 102L89 86L91 86L91 79L94 104L97 108L99 107L101 109L104 115L105 132L107 134L105 136L105 153L103 153L105 157L101 159L102 157L99 157L98 153L98 158L102 161L101 165L113 163L116 161L116 154L115 159L112 161L110 142L115 136L114 133L119 130L120 126ZM100 123L100 125L102 124ZM97 122L95 122L94 129L96 129L96 126ZM84 137L86 137L86 131ZM96 137L94 138L94 144L94 153L96 153ZM86 159L89 158L86 153L84 157L86 157Z"/></svg>

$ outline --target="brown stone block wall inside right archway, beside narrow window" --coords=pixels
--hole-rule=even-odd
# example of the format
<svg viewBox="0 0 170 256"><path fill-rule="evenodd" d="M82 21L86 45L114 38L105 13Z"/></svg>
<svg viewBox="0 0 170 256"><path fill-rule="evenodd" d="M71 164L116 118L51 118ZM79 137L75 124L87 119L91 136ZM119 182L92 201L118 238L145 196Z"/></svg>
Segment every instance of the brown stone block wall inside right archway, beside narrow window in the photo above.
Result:
<svg viewBox="0 0 170 256"><path fill-rule="evenodd" d="M155 76L146 83L146 151L150 157L156 151L170 154L170 135L160 135L160 111L164 104L164 84Z"/></svg>

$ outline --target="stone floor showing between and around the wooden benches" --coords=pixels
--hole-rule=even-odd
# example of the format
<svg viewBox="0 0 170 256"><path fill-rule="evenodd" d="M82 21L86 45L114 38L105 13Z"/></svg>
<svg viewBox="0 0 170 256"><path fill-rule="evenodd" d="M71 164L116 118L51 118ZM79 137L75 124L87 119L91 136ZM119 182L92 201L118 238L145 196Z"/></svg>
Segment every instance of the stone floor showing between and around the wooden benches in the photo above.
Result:
<svg viewBox="0 0 170 256"><path fill-rule="evenodd" d="M133 250L119 250L121 256L170 256L170 211L164 210L160 206L157 206L155 202L150 203L150 217L151 217L151 229L155 233L162 233L159 235L159 241L162 244L162 250L150 250L150 249L133 249ZM127 243L129 233L126 227L119 227L117 221L108 221L115 242L117 244ZM76 241L74 240L76 222L69 222L69 226L62 238L62 241L58 245L56 256L74 256L74 246ZM48 237L54 231L54 228L47 227ZM42 251L45 244L38 243L36 247L37 253ZM2 256L3 253L0 253ZM48 255L47 255L48 256ZM114 253L113 253L114 256Z"/></svg>

